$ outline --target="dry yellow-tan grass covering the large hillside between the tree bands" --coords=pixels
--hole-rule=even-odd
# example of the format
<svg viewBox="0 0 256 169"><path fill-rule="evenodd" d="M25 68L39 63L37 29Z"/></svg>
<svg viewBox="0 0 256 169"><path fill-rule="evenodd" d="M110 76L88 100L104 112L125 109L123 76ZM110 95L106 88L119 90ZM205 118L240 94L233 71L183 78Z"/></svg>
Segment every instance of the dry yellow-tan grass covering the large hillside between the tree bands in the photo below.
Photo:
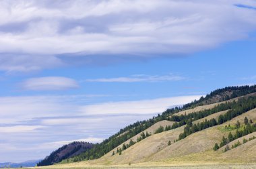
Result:
<svg viewBox="0 0 256 169"><path fill-rule="evenodd" d="M255 95L253 93L252 95ZM186 110L187 113L197 112L203 109L211 109L220 103L214 103L212 105L205 105L200 107L195 107L194 109ZM181 114L185 111L177 113ZM219 115L226 113L222 111L210 115L203 119L194 121L193 123L199 123L204 119L218 118ZM177 129L172 129L170 131L164 131L162 133L151 135L141 142L136 143L127 150L122 152L122 155L111 156L112 152L109 152L102 158L98 160L90 160L84 162L76 162L72 164L59 164L56 166L51 166L51 168L71 168L79 166L105 166L105 165L120 165L120 164L131 164L139 166L154 166L154 165L182 165L182 164L213 164L213 163L223 163L223 162L256 162L256 139L247 142L234 148L228 152L223 153L221 150L214 152L212 148L214 144L220 143L223 135L227 136L230 131L224 131L225 125L234 125L237 120L243 121L245 117L253 119L256 121L256 109L244 113L231 121L227 121L222 125L217 125L210 127L203 131L193 133L185 139L179 142L173 143L174 139L179 137L179 134L183 132L184 126ZM144 132L154 133L154 131L160 126L172 125L173 122L170 121L160 121L146 129ZM256 133L252 133L255 134ZM251 135L252 135L251 134ZM135 135L132 139L137 139L139 135ZM246 137L246 136L245 136ZM243 138L241 138L243 139ZM172 145L168 146L168 141L172 142ZM237 142L235 140L234 142ZM129 141L126 142L128 144ZM115 148L115 150L117 150ZM243 155L243 156L241 156Z"/></svg>

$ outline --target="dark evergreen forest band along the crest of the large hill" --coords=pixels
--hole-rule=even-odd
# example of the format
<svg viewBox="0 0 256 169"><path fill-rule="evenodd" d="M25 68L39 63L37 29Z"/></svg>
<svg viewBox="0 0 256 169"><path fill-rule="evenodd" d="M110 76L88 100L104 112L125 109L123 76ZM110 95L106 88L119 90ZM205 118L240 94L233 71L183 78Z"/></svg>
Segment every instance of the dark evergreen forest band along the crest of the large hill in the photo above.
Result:
<svg viewBox="0 0 256 169"><path fill-rule="evenodd" d="M228 99L241 97L255 92L256 85L242 87L225 87L223 89L217 89L216 91L212 91L205 97L201 97L198 101L193 101L192 103L183 105L183 107L167 109L162 113L162 115L158 115L157 117L153 117L152 119L137 121L136 123L133 123L132 125L121 129L118 133L109 137L108 139L105 139L102 143L96 144L96 146L94 146L94 148L92 148L91 150L87 150L86 152L79 154L79 156L75 156L74 158L67 160L67 162L77 162L81 160L92 160L100 158L114 148L117 148L117 146L119 146L123 142L131 139L131 137L137 135L138 133L141 133L141 131L144 131L145 129L148 129L148 127L154 125L155 123L162 120L170 120L170 115L178 113L179 111L190 109L198 105L218 103L220 101L226 101ZM185 124L186 122L183 121L183 125ZM132 146L132 144L133 142L131 142L129 146Z"/></svg>

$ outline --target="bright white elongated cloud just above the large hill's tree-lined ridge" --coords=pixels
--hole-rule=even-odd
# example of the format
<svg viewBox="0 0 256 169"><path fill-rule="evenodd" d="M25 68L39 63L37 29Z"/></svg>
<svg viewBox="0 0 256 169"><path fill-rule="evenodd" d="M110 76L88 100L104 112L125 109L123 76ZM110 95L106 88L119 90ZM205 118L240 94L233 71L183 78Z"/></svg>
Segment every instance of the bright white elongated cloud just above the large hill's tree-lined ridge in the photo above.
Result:
<svg viewBox="0 0 256 169"><path fill-rule="evenodd" d="M119 101L109 103L99 103L82 107L80 110L84 114L148 114L161 113L174 105L183 105L190 103L194 99L199 99L201 95L185 96L185 97L170 97L142 101Z"/></svg>

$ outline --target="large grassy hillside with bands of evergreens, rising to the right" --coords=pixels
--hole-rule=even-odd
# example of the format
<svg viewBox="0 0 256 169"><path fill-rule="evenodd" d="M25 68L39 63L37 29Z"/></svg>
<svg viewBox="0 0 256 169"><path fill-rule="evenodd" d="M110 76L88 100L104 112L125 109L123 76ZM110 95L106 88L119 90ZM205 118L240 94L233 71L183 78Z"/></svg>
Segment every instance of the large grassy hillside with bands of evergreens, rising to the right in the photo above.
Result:
<svg viewBox="0 0 256 169"><path fill-rule="evenodd" d="M255 88L219 89L214 91L218 96L207 95L200 99L201 102L168 109L162 115L121 129L91 150L63 160L64 164L55 167L255 162ZM245 117L250 123L244 122ZM235 135L238 131L241 135L214 151L214 146L221 145L223 137L228 137L230 133ZM231 148L238 141L245 143ZM226 151L227 147L231 150ZM80 160L85 161L77 162Z"/></svg>

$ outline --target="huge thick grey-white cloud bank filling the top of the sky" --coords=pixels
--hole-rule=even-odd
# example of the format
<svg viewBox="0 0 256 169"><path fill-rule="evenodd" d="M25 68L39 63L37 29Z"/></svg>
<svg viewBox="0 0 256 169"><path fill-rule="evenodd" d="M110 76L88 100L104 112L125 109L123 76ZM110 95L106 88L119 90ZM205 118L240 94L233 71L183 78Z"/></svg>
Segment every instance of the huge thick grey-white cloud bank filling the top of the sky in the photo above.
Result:
<svg viewBox="0 0 256 169"><path fill-rule="evenodd" d="M177 56L244 40L256 30L256 10L234 4L256 6L242 0L1 1L0 53L24 59L0 69L61 66L65 58L59 54L67 53L89 60L96 54Z"/></svg>

